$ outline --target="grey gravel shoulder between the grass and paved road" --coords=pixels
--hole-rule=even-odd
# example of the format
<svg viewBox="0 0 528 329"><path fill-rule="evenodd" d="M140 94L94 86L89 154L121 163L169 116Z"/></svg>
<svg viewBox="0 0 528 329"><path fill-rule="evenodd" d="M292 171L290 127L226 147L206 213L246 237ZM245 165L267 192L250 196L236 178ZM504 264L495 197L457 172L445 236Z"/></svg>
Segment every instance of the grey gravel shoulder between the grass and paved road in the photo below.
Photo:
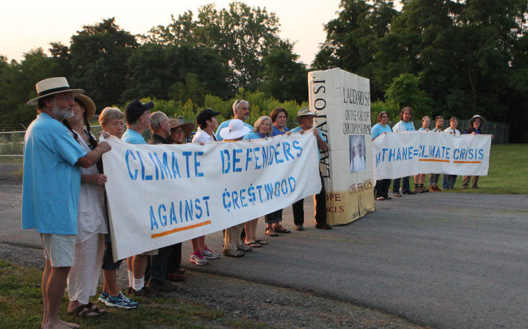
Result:
<svg viewBox="0 0 528 329"><path fill-rule="evenodd" d="M0 162L0 186L21 184L21 177L13 175L19 168L17 162ZM11 209L11 202L19 200L1 202L1 210ZM44 265L42 249L11 243L0 243L0 258L40 270ZM125 265L118 271L118 284L123 289L127 286ZM171 294L184 303L221 310L233 318L272 328L430 328L342 300L189 269L187 279L177 285L177 291ZM221 324L204 326L225 328Z"/></svg>

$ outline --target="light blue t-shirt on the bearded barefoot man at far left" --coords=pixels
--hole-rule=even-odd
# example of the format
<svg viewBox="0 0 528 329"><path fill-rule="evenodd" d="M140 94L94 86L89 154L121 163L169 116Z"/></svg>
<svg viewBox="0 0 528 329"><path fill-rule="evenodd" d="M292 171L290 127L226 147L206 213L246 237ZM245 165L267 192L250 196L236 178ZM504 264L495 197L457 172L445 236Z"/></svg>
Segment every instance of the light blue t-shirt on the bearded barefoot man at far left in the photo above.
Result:
<svg viewBox="0 0 528 329"><path fill-rule="evenodd" d="M81 171L86 151L60 121L38 114L24 137L22 228L77 234Z"/></svg>

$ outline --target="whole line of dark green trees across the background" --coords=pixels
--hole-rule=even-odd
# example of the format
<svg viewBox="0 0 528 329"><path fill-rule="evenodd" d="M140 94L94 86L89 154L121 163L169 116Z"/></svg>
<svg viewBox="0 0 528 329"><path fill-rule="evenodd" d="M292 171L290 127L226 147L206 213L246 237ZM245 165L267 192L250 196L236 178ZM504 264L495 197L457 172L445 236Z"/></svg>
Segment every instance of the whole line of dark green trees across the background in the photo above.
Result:
<svg viewBox="0 0 528 329"><path fill-rule="evenodd" d="M25 101L50 76L84 88L98 110L149 97L195 111L253 93L293 111L307 101L309 70L340 67L370 79L373 115L387 110L395 120L402 106L416 117L478 113L510 123L510 141L526 143L528 0L401 2L398 12L392 1L341 0L310 67L278 36L276 14L241 2L204 5L143 35L105 19L85 25L70 45L51 42L51 56L0 56L0 122L31 121Z"/></svg>

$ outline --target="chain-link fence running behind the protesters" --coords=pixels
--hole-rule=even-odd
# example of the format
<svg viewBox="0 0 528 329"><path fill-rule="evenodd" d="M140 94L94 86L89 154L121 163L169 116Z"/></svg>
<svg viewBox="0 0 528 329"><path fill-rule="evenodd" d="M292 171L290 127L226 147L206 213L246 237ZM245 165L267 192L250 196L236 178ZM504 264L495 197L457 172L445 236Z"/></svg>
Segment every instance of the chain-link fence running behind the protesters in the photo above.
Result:
<svg viewBox="0 0 528 329"><path fill-rule="evenodd" d="M413 121L414 126L418 129L422 127L420 121ZM394 123L390 124L391 126ZM434 121L431 123L431 129L433 128ZM91 132L94 136L99 136L101 126L97 121L97 116L90 120ZM446 129L449 126L449 120L444 121L444 127ZM464 132L469 127L469 120L459 120L458 130ZM24 134L27 127L25 125L0 125L0 157L22 157L24 150ZM492 144L507 144L509 134L509 123L490 122L486 121L485 125L481 128L483 134L493 134ZM190 142L193 138L194 132L187 138L187 142ZM145 141L149 141L152 136L150 130L143 132L143 138Z"/></svg>

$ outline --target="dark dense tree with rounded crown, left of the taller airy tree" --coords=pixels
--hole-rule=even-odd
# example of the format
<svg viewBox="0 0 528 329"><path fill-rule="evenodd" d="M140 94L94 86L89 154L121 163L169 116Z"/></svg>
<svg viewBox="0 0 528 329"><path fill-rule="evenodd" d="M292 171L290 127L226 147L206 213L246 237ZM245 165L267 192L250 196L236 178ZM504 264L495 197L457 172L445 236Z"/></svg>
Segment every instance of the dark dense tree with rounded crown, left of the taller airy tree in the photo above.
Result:
<svg viewBox="0 0 528 329"><path fill-rule="evenodd" d="M118 103L130 82L125 63L137 46L136 38L120 29L113 17L84 25L71 37L73 85L86 90L99 108Z"/></svg>

